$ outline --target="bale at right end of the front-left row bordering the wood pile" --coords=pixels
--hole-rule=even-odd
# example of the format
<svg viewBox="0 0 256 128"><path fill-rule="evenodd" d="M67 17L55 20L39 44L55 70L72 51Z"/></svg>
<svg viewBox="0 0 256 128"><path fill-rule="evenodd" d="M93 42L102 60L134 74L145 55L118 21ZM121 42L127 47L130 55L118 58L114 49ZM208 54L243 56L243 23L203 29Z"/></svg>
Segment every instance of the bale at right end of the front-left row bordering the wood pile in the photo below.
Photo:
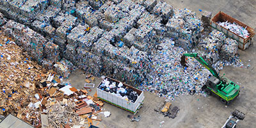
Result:
<svg viewBox="0 0 256 128"><path fill-rule="evenodd" d="M47 60L60 60L60 47L52 42L47 42L44 46L44 55Z"/></svg>

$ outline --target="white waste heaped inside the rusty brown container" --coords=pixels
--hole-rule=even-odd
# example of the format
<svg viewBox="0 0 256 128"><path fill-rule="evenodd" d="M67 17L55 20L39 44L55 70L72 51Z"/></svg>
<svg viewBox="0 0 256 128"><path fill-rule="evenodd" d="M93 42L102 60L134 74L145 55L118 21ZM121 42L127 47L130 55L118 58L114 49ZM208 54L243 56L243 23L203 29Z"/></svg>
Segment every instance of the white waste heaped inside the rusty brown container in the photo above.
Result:
<svg viewBox="0 0 256 128"><path fill-rule="evenodd" d="M224 28L228 29L229 31L232 31L233 33L236 33L237 35L243 37L243 38L248 38L250 36L250 33L246 28L243 28L242 26L239 26L236 24L236 22L218 22L220 26L223 26Z"/></svg>

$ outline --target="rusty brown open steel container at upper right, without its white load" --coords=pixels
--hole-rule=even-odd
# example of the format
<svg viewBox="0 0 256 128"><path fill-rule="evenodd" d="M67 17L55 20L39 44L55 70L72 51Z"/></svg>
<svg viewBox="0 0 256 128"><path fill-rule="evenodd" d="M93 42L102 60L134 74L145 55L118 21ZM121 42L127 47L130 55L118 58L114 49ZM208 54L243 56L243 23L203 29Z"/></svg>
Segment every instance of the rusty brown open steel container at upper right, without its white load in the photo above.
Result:
<svg viewBox="0 0 256 128"><path fill-rule="evenodd" d="M226 29L222 26L219 26L218 23L217 23L218 21L221 21L221 22L228 21L228 22L231 22L231 23L236 22L236 24L238 24L239 26L243 26L243 28L246 28L246 30L250 33L250 36L248 38L243 38L243 37L237 35L236 33L233 33L232 31L229 31L228 29ZM246 48L249 47L249 45L252 43L253 36L255 35L254 29L250 28L249 26L246 26L245 24L243 24L239 20L236 20L233 17L230 17L229 15L227 15L224 12L218 12L211 19L210 24L211 24L211 28L217 29L218 31L222 31L228 37L233 38L234 40L237 40L238 47L241 50L245 50Z"/></svg>

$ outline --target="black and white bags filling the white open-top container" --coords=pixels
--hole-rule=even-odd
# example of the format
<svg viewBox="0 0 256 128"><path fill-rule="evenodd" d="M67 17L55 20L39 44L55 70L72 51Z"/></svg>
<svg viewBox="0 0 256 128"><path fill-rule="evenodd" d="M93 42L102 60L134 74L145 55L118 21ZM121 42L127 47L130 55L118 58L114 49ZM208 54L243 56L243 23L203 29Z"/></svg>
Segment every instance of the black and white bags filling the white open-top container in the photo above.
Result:
<svg viewBox="0 0 256 128"><path fill-rule="evenodd" d="M122 83L116 83L108 78L104 79L98 88L131 102L135 102L138 99L137 92L133 91L132 88L127 88Z"/></svg>

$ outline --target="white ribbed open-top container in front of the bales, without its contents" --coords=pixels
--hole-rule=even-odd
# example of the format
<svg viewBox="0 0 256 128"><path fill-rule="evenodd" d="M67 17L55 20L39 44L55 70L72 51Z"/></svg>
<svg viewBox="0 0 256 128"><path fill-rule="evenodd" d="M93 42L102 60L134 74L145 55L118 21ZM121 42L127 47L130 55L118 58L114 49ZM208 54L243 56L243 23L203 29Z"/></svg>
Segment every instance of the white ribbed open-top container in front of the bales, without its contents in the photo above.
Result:
<svg viewBox="0 0 256 128"><path fill-rule="evenodd" d="M116 83L121 83L120 81L113 79L111 77L106 77L107 79L111 79L112 81L115 81ZM105 79L106 79L105 78ZM104 79L102 80L104 81ZM131 113L134 113L134 115L138 112L138 110L141 108L143 101L144 101L144 94L143 91L138 90L132 86L129 86L128 84L122 83L124 86L128 88L132 88L134 92L138 93L138 98L135 102L131 102L125 99L122 99L121 97L117 97L115 94L112 94L110 92L106 92L104 90L100 90L99 86L102 84L102 81L97 86L97 95L98 98L101 100L104 100L110 104L113 104L119 108L125 109L127 111L130 111Z"/></svg>

